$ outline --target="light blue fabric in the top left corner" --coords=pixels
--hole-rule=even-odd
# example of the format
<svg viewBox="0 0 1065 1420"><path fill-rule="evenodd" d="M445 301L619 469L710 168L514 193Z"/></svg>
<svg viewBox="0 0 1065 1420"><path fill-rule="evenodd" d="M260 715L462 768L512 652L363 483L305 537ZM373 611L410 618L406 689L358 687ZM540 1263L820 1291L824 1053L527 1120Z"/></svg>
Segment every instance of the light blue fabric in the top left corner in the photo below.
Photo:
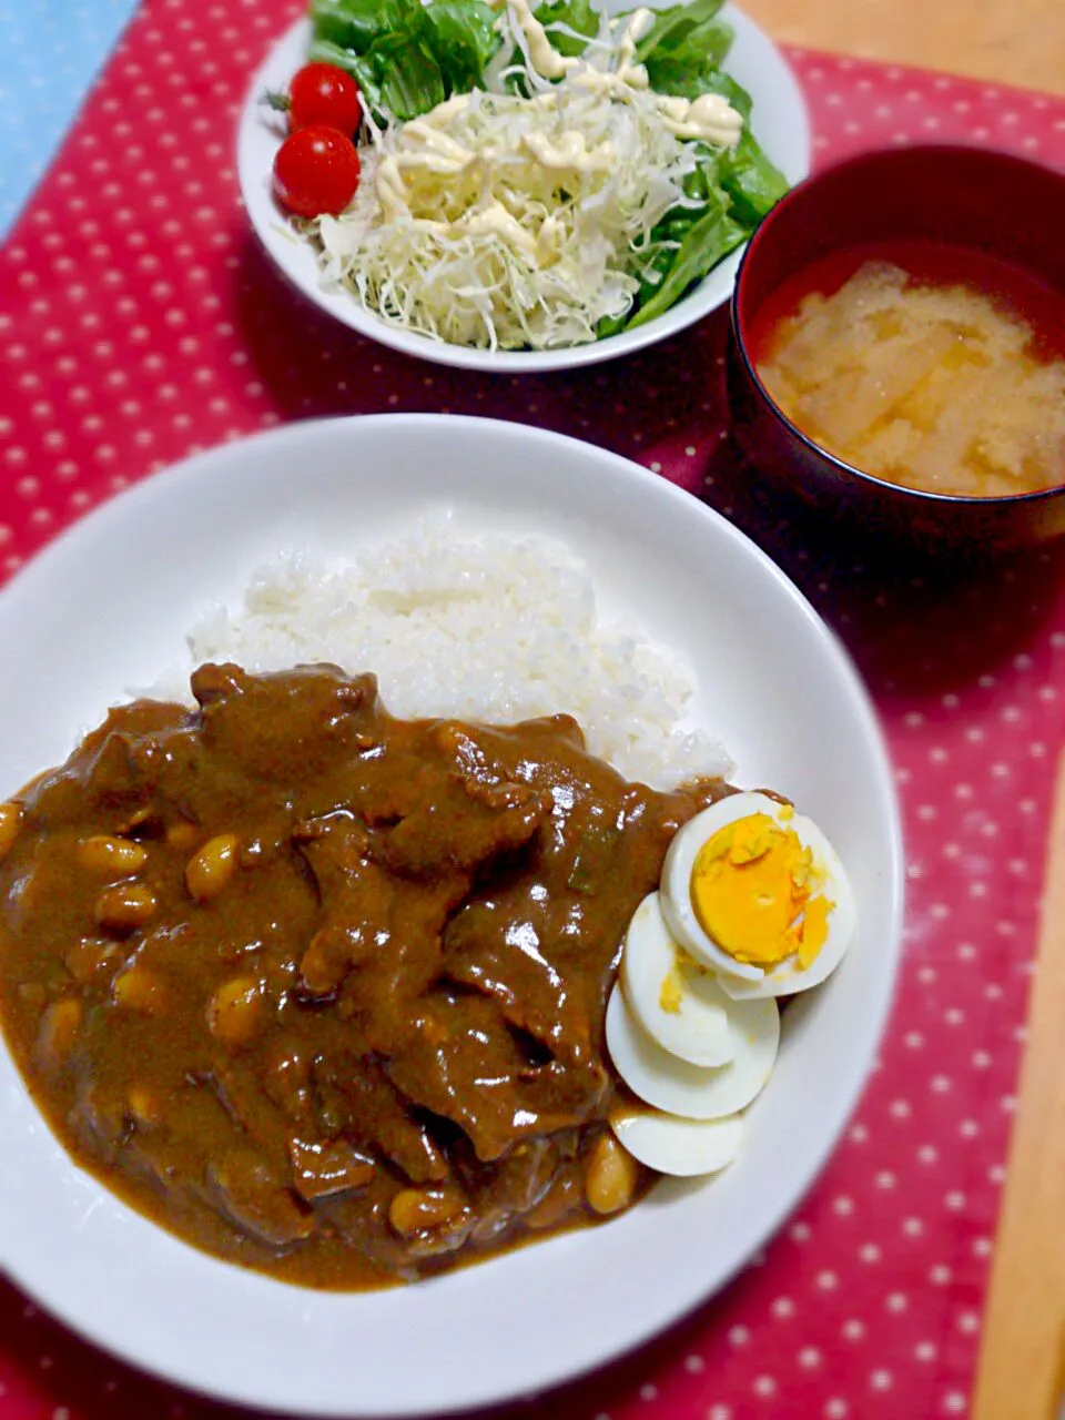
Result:
<svg viewBox="0 0 1065 1420"><path fill-rule="evenodd" d="M138 0L0 0L0 237L47 169Z"/></svg>

